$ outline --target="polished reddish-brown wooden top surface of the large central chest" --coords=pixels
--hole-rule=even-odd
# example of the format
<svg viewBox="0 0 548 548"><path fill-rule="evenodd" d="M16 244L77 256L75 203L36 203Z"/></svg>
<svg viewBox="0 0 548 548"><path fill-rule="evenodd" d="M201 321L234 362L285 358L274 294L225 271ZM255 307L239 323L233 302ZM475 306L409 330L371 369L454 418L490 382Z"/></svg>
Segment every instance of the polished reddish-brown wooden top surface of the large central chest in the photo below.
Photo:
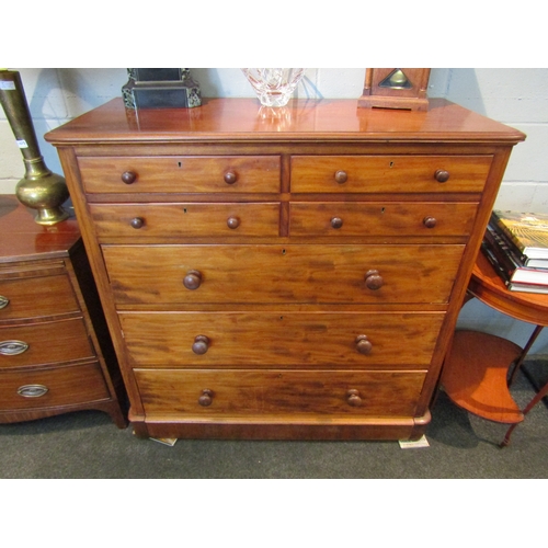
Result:
<svg viewBox="0 0 548 548"><path fill-rule="evenodd" d="M427 112L358 109L354 100L292 100L286 107L261 107L255 99L205 99L198 109L126 111L122 99L93 110L46 134L62 142L130 140L287 140L359 139L418 142L518 142L524 135L443 99L431 99Z"/></svg>

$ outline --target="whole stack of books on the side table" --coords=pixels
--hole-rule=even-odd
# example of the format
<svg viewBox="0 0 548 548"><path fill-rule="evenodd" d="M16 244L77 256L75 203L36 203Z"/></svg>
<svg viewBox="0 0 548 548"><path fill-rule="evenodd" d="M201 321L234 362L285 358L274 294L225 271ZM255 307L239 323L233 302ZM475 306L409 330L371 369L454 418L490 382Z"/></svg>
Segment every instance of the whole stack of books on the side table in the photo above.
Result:
<svg viewBox="0 0 548 548"><path fill-rule="evenodd" d="M493 210L481 251L510 290L548 294L548 215Z"/></svg>

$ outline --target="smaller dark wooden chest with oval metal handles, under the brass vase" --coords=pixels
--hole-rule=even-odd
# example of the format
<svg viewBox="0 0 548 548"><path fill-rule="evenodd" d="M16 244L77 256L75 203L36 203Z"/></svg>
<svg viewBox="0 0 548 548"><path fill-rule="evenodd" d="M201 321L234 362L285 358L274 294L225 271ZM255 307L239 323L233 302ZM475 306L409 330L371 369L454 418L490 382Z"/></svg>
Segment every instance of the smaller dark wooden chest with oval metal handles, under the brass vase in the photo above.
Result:
<svg viewBox="0 0 548 548"><path fill-rule="evenodd" d="M125 427L122 379L78 224L43 227L34 215L0 196L0 423L96 409Z"/></svg>

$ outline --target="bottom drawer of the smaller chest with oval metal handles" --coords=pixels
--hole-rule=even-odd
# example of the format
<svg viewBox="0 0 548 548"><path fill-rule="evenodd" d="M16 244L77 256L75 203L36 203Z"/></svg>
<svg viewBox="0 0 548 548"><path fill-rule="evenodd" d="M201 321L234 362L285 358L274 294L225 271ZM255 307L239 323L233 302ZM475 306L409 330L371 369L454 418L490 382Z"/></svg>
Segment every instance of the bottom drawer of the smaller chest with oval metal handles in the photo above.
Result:
<svg viewBox="0 0 548 548"><path fill-rule="evenodd" d="M0 370L0 410L72 406L110 398L99 363Z"/></svg>

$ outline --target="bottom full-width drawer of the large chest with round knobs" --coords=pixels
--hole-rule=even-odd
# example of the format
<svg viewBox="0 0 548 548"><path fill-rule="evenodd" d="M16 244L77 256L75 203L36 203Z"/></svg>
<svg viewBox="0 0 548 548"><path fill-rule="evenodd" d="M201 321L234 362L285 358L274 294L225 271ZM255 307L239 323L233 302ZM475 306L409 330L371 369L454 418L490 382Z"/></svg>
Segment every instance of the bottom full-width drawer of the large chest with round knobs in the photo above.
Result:
<svg viewBox="0 0 548 548"><path fill-rule="evenodd" d="M147 414L412 416L425 373L134 369Z"/></svg>

